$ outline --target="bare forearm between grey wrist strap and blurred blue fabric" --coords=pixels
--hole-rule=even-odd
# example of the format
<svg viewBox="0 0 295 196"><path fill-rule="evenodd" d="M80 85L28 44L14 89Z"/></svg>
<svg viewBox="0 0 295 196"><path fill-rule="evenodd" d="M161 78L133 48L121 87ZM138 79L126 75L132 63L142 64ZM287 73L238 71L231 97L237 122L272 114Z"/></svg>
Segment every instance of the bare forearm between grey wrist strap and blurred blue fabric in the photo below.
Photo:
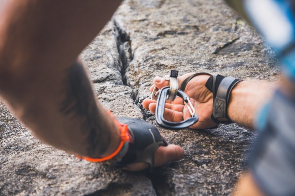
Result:
<svg viewBox="0 0 295 196"><path fill-rule="evenodd" d="M240 125L253 128L256 113L272 97L276 82L246 80L232 90L228 115Z"/></svg>

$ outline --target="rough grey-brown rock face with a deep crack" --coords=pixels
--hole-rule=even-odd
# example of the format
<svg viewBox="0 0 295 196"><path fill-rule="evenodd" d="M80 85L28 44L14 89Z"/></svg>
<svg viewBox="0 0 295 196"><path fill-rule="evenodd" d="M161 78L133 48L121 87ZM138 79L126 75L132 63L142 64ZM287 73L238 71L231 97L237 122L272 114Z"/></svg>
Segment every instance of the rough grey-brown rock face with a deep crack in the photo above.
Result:
<svg viewBox="0 0 295 196"><path fill-rule="evenodd" d="M80 161L40 143L0 104L0 195L229 195L256 134L235 124L167 130L140 110L155 76L170 69L275 80L261 38L221 0L127 0L82 58L100 102L117 116L143 118L183 160L153 172Z"/></svg>

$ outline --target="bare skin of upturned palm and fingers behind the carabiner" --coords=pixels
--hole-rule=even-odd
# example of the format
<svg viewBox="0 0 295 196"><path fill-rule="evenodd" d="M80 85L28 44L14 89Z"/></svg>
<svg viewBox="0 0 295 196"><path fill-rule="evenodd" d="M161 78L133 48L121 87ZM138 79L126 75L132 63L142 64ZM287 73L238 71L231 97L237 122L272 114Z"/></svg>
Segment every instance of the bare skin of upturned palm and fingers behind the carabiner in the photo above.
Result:
<svg viewBox="0 0 295 196"><path fill-rule="evenodd" d="M186 73L183 76L178 77L179 87L183 81L194 73ZM210 75L199 75L192 78L189 83L187 83L185 88L185 93L191 98L191 103L195 108L195 113L199 116L199 120L194 125L189 128L192 129L205 129L212 128L216 125L210 116L213 112L213 94L205 86ZM150 91L152 92L156 86L161 89L165 86L169 86L170 81L164 78L155 77L154 84L151 86ZM143 107L146 110L150 110L155 113L156 110L156 100L145 99L142 102ZM173 101L167 101L165 104L164 118L172 122L180 122L187 118L190 118L191 114L186 105L183 105L181 98L177 97Z"/></svg>

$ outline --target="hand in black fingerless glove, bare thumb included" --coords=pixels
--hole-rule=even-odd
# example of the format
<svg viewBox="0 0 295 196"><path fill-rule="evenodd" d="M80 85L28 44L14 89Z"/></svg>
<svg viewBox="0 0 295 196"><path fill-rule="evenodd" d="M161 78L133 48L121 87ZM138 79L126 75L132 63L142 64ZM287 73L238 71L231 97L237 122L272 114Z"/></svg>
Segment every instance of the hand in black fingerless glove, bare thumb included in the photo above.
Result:
<svg viewBox="0 0 295 196"><path fill-rule="evenodd" d="M132 138L126 155L117 163L123 169L139 171L183 158L183 149L178 145L168 145L153 125L138 118L119 117L118 121L128 124Z"/></svg>

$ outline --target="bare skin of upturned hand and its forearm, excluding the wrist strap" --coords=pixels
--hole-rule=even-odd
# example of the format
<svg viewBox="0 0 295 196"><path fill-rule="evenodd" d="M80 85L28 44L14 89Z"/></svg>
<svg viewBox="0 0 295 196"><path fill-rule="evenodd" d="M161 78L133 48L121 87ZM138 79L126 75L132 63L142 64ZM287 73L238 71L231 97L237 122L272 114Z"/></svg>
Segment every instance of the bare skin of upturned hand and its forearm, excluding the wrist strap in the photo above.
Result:
<svg viewBox="0 0 295 196"><path fill-rule="evenodd" d="M186 73L178 77L179 87L192 74L194 73ZM199 121L190 127L192 129L206 129L216 125L210 118L213 112L213 93L205 86L209 77L209 75L199 75L192 78L184 90L191 98L195 113L199 116ZM154 86L161 89L169 86L169 81L155 77L154 85L150 88L151 92ZM276 87L277 83L268 81L246 80L238 83L230 93L227 115L235 123L253 128L256 112L271 98ZM145 109L155 113L155 100L145 99L142 105ZM172 102L167 101L165 108L164 118L172 122L179 122L191 116L181 98L176 98Z"/></svg>

